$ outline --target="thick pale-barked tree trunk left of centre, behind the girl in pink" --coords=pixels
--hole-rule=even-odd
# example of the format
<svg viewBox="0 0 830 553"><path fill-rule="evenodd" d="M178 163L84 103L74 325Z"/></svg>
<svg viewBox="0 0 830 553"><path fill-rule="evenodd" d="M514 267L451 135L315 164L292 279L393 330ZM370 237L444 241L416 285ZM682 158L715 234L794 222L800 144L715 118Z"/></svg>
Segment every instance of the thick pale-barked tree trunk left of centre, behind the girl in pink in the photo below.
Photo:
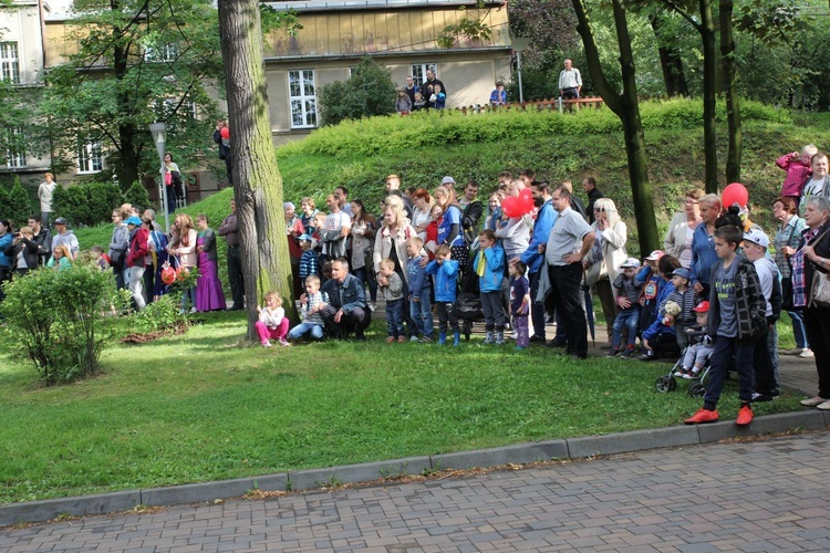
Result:
<svg viewBox="0 0 830 553"><path fill-rule="evenodd" d="M291 262L282 210L282 177L271 142L259 2L219 0L219 35L227 76L234 196L241 241L248 338L257 305L269 291L283 298L286 315L297 319Z"/></svg>

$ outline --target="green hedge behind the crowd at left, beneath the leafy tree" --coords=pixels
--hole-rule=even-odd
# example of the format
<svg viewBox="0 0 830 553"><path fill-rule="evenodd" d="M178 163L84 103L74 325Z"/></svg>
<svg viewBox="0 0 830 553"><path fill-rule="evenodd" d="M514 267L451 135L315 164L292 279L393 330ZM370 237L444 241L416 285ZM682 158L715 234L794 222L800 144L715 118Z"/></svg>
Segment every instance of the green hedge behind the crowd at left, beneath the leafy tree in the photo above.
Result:
<svg viewBox="0 0 830 553"><path fill-rule="evenodd" d="M116 185L92 181L55 187L52 209L75 226L90 227L108 221L113 209L122 204L123 197Z"/></svg>

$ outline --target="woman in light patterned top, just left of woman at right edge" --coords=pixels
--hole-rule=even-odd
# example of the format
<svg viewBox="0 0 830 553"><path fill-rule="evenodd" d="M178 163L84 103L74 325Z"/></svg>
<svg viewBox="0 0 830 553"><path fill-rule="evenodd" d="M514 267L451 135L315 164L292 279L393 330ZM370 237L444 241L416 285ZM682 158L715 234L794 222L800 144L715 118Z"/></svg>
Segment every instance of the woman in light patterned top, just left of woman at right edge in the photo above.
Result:
<svg viewBox="0 0 830 553"><path fill-rule="evenodd" d="M798 250L801 234L807 229L807 223L798 216L798 206L792 198L780 197L772 202L772 213L778 219L778 230L775 237L776 265L781 273L781 296L784 310L792 320L792 334L796 337L796 348L781 353L798 355L800 357L812 357L810 344L807 342L805 332L803 312L792 305L792 268L790 258Z"/></svg>

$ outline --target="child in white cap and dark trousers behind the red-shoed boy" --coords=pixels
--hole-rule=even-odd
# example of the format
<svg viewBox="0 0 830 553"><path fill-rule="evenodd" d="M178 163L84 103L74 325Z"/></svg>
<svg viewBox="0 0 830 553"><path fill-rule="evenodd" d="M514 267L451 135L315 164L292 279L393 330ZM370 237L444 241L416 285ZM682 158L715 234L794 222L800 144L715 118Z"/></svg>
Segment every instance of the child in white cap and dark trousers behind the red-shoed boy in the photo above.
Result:
<svg viewBox="0 0 830 553"><path fill-rule="evenodd" d="M781 316L781 284L778 267L767 257L769 237L759 229L744 234L744 255L755 265L761 294L766 300L767 338L755 342L755 393L753 401L770 401L779 394L778 388L778 330L776 322Z"/></svg>

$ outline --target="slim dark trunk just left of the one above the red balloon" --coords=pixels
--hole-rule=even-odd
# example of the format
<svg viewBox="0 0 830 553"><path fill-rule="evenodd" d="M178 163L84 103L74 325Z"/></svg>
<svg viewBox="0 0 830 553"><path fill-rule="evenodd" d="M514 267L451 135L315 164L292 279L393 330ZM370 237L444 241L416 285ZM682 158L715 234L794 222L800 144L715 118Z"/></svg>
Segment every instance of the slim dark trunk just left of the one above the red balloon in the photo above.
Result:
<svg viewBox="0 0 830 553"><path fill-rule="evenodd" d="M701 38L703 39L703 152L706 191L717 194L717 136L715 133L715 98L717 59L715 56L715 22L712 0L699 0Z"/></svg>

